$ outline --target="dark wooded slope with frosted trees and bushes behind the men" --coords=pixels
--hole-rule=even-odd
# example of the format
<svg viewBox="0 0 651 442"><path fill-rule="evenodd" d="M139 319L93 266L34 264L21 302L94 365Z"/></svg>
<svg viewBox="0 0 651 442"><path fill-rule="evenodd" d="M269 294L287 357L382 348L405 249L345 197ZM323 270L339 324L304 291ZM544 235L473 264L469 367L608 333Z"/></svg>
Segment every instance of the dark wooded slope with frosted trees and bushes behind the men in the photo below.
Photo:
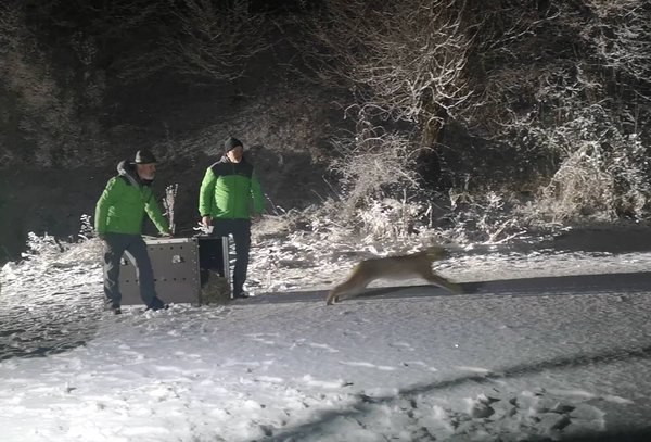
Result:
<svg viewBox="0 0 651 442"><path fill-rule="evenodd" d="M323 203L365 229L398 210L405 232L490 240L643 222L649 17L643 0L5 0L0 261L29 231L77 233L141 148L191 231L229 134L270 214Z"/></svg>

